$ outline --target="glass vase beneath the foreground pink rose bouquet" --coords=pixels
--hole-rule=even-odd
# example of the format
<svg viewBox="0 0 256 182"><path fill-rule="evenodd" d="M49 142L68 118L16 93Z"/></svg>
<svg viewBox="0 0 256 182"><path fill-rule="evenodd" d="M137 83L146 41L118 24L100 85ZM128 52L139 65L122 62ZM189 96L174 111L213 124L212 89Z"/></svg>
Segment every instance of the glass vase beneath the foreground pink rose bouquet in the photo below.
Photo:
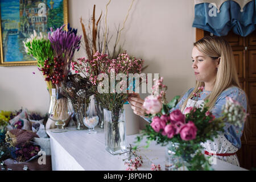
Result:
<svg viewBox="0 0 256 182"><path fill-rule="evenodd" d="M165 170L166 171L184 171L184 161L181 156L176 156L175 152L179 147L179 143L169 142L166 146L166 161L165 161Z"/></svg>

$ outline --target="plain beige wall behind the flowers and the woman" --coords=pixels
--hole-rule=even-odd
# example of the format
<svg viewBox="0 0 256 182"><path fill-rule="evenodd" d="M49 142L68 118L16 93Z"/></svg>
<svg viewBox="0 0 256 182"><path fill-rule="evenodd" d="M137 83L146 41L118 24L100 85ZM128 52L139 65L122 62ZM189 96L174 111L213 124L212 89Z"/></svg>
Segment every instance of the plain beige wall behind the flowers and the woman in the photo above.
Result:
<svg viewBox="0 0 256 182"><path fill-rule="evenodd" d="M89 18L93 5L96 17L105 15L108 0L69 0L69 22L81 34L80 17ZM114 25L122 25L131 1L112 0L108 6L110 34ZM195 42L191 0L135 0L122 31L121 42L131 55L146 60L145 73L160 73L168 86L169 100L183 94L195 82L191 68L191 52ZM105 18L105 16L104 16ZM85 56L84 49L75 58ZM36 74L33 75L32 72ZM144 96L142 96L144 97ZM0 110L18 110L46 113L49 96L46 84L35 66L0 67ZM141 127L144 122L141 121Z"/></svg>

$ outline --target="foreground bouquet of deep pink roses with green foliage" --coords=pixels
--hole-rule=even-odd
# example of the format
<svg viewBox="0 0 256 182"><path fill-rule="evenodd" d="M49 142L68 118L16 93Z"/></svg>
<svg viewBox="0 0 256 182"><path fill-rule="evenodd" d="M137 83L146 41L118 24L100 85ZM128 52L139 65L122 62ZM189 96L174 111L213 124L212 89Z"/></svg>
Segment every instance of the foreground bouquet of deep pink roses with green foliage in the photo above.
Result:
<svg viewBox="0 0 256 182"><path fill-rule="evenodd" d="M237 101L227 97L220 118L215 118L205 105L199 108L187 107L184 113L179 109L170 113L179 96L167 102L166 90L167 86L163 85L163 78L160 78L152 88L152 95L145 98L143 107L146 109L146 117L151 121L137 138L137 146L144 136L147 137L148 145L151 140L156 140L162 146L175 144L176 148L172 150L183 161L176 164L177 168L185 165L189 170L211 169L207 158L202 154L204 148L200 143L217 137L218 132L224 131L226 122L241 126L247 116L245 110ZM194 95L199 96L202 90L203 88L199 88Z"/></svg>

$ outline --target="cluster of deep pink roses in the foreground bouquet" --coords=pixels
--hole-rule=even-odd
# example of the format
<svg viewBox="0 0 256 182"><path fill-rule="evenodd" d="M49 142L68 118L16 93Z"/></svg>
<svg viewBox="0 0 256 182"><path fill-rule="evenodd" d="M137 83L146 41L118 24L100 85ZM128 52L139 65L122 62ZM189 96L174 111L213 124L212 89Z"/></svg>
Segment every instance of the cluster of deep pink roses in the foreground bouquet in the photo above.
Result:
<svg viewBox="0 0 256 182"><path fill-rule="evenodd" d="M192 121L186 123L185 115L179 109L170 114L161 115L161 117L155 116L152 118L150 126L168 138L173 138L177 134L180 134L180 138L186 141L196 138L197 128L195 124Z"/></svg>

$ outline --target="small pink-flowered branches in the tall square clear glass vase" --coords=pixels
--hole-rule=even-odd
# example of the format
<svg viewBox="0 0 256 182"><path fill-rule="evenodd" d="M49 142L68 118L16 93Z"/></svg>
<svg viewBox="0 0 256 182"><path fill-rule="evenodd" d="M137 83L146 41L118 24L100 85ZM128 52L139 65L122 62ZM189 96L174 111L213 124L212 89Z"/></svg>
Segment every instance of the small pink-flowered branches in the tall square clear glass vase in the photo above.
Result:
<svg viewBox="0 0 256 182"><path fill-rule="evenodd" d="M105 139L109 146L107 150L117 154L121 148L126 149L125 144L120 147L120 143L125 143L123 104L129 97L127 77L129 73L140 74L144 60L130 57L126 51L119 54L117 59L108 59L108 55L100 52L93 56L93 60L81 57L72 61L72 69L92 82L95 98L104 108ZM117 82L116 79L121 81Z"/></svg>

